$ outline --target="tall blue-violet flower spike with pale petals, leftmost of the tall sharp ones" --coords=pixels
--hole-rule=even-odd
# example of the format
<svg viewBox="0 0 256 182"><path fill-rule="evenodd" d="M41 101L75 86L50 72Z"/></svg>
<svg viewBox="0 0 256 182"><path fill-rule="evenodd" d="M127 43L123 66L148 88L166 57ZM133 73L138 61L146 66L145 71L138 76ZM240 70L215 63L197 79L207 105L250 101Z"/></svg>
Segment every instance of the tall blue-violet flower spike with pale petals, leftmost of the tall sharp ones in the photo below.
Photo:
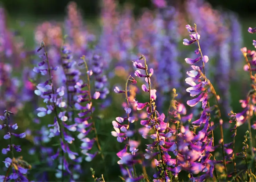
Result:
<svg viewBox="0 0 256 182"><path fill-rule="evenodd" d="M52 159L58 158L58 156L61 153L61 165L57 169L56 177L57 178L63 178L64 173L63 171L66 170L70 175L72 172L69 170L69 164L67 159L65 158L65 153L67 153L68 157L71 160L75 160L78 153L73 152L70 150L68 143L71 144L75 140L70 134L68 134L67 131L76 131L76 125L68 125L65 122L68 120L68 117L66 116L66 108L67 104L63 100L63 96L65 94L65 87L61 86L60 88L54 88L53 82L52 82L52 71L57 70L58 67L50 67L49 66L49 59L48 59L48 53L45 47L44 42L41 43L41 47L38 49L40 51L41 49L44 50L44 53L42 55L43 61L38 63L38 67L34 68L34 71L36 73L41 73L42 75L48 74L49 79L46 81L39 83L36 87L37 90L35 90L35 94L40 96L44 99L44 103L46 103L45 107L39 107L36 110L39 111L37 113L38 117L44 117L47 114L54 113L54 123L48 124L48 127L53 127L49 129L49 138L53 138L55 136L60 136L60 146L61 148L58 148L56 154L52 156ZM66 131L67 130L67 131Z"/></svg>

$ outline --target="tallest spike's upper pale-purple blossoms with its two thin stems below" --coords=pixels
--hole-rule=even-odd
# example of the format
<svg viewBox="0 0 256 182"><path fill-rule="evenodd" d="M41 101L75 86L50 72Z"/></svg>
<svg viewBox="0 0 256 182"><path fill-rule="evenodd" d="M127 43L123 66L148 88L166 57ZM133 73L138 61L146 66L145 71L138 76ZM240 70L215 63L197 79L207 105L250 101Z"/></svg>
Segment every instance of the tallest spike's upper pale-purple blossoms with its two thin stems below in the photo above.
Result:
<svg viewBox="0 0 256 182"><path fill-rule="evenodd" d="M187 89L187 92L190 92L190 95L192 97L194 97L195 95L198 95L198 94L200 94L200 95L196 99L189 100L187 102L187 104L190 105L191 107L193 107L199 101L202 101L202 108L204 109L204 111L202 112L202 115L201 115L200 119L197 120L197 121L192 122L192 124L195 124L195 126L198 126L198 125L200 126L202 123L205 123L204 126L207 127L207 123L209 123L210 124L210 128L212 128L211 121L210 121L210 112L209 112L210 104L209 104L209 101L208 101L209 93L208 93L208 90L207 90L209 86L210 86L210 90L213 92L214 96L216 97L217 104L218 104L218 97L216 95L216 92L215 92L212 84L205 77L205 69L204 69L205 65L204 64L208 62L209 58L208 58L207 55L203 55L202 54L202 50L201 50L200 43L199 43L200 35L198 34L198 32L196 30L196 24L194 24L194 26L195 26L195 28L190 28L191 26L187 25L186 28L189 30L189 32L195 32L195 34L190 35L191 39L193 40L193 42L191 42L191 43L197 42L198 50L199 50L199 53L201 54L201 57L199 57L199 58L197 58L195 60L186 58L185 61L187 63L189 63L189 64L194 64L195 62L198 62L200 59L202 59L202 67L197 67L197 66L192 65L191 67L193 68L193 70L190 71L190 72L187 72L187 74L190 77L186 78L185 81L190 86L192 86L192 87ZM192 31L190 31L190 29ZM187 45L186 41L184 41L184 42L183 42L183 44ZM201 70L203 70L203 73L202 73ZM203 78L203 80L200 81L201 78ZM199 81L199 83L197 84L195 81ZM221 115L220 115L219 104L218 104L218 113L219 113L219 115L218 115L219 120L222 121ZM207 122L205 122L205 119L207 120ZM222 144L223 165L224 165L224 168L225 168L225 172L227 174L225 151L224 151L224 141L223 141L222 122L220 122L220 132L221 132L221 141L220 141L220 143ZM213 139L214 139L214 137L213 137L213 130L211 130L211 135L212 135L212 138L211 138L211 142L210 143L211 143L212 148L213 148L213 150L211 150L211 152L213 152L213 160L215 160L214 143L213 143ZM216 173L215 165L213 165L213 167L214 167L214 175L217 178L217 173Z"/></svg>

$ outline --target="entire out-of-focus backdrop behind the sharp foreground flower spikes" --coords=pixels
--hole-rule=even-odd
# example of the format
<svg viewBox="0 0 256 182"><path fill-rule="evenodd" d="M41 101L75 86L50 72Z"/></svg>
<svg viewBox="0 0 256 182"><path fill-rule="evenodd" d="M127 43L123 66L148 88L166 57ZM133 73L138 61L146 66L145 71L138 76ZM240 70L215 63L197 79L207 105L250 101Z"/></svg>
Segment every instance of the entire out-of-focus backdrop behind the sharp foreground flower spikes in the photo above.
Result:
<svg viewBox="0 0 256 182"><path fill-rule="evenodd" d="M124 98L113 93L113 89L115 86L124 88L128 75L134 75L131 60L144 54L149 67L155 70L152 82L157 89L159 112L167 113L172 88L177 89L178 101L185 104L191 99L184 82L186 71L191 68L184 59L195 58L196 46L182 44L183 39L189 38L186 24L193 26L196 23L198 26L201 48L210 59L206 66L208 77L216 85L221 98L225 141L231 142L228 113L231 109L237 113L243 111L239 100L246 99L250 88L249 73L243 70L245 62L240 48L254 49L252 40L255 36L247 30L255 27L256 1L166 0L166 7L161 2L163 0L0 0L0 112L8 108L15 113L19 130L27 133L20 155L33 166L30 179L43 179L42 171L47 174L45 181L55 178L55 168L40 162L54 153L52 149L49 149L49 154L48 148L41 153L36 148L37 153L33 153L34 146L48 147L49 143L56 146L56 141L48 140L43 132L47 130L47 124L52 124L53 116L47 115L39 121L35 111L44 104L34 94L40 79L32 71L39 62L35 50L42 40L49 49L53 65L60 65L63 43L71 49L74 60L86 55L89 67L95 65L93 54L102 57L100 70L107 81L100 88L102 98L95 115L100 121L97 125L99 138L113 181L120 180L116 152L123 146L110 132L113 131L112 121L123 113L121 105L125 102ZM63 41L65 34L68 37ZM58 86L62 84L61 74L63 72L57 72L54 77L54 84ZM132 97L146 102L147 97L140 91L143 81L137 80L137 86L129 87ZM97 81L93 80L94 83ZM98 87L93 85L93 90L99 90ZM194 119L200 115L196 109L186 107L187 113L194 114ZM139 112L138 120L143 119L142 115ZM240 151L246 130L246 124L239 127L237 151ZM38 133L47 138L41 141L44 144L38 143ZM216 134L214 140L218 142L218 131ZM99 171L104 171L106 165L99 166L102 164L99 156L95 162L87 164L83 161L82 181L91 180L90 167L97 169L100 176Z"/></svg>

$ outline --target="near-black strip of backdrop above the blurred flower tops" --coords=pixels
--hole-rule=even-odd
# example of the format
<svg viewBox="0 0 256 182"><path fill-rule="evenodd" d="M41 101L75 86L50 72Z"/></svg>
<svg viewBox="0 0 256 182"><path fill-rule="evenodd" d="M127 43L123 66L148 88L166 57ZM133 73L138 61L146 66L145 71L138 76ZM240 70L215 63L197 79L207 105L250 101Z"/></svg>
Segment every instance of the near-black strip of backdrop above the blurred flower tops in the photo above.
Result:
<svg viewBox="0 0 256 182"><path fill-rule="evenodd" d="M19 14L32 14L35 16L62 16L65 14L67 3L70 0L0 0L11 16ZM98 16L102 0L75 0L86 14L87 18ZM121 4L129 2L135 7L135 13L143 7L153 8L151 0L116 0ZM168 0L167 0L168 1ZM183 0L170 0L171 3L182 3ZM230 9L240 16L253 16L256 12L256 0L208 0L214 7Z"/></svg>

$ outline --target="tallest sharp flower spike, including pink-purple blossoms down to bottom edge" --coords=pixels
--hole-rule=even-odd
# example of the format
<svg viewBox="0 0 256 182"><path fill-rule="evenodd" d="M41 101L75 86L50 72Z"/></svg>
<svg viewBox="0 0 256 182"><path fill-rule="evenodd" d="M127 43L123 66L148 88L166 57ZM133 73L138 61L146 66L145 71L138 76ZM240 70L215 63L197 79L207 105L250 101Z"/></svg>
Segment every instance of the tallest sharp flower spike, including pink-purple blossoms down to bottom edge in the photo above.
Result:
<svg viewBox="0 0 256 182"><path fill-rule="evenodd" d="M195 97L196 95L198 95L197 98L187 101L187 104L190 107L194 107L199 102L202 102L202 109L203 109L200 118L196 121L191 122L191 124L194 127L203 127L202 130L200 130L198 132L198 135L197 135L198 137L195 137L196 138L195 142L199 142L199 145L202 147L202 150L201 151L199 150L200 155L202 155L202 156L201 156L201 158L197 158L198 156L196 156L197 159L195 161L190 161L189 164L192 165L191 162L199 162L199 165L197 165L197 164L195 165L195 169L197 169L195 174L202 172L202 171L205 173L202 174L199 178L197 177L194 179L192 177L192 180L193 181L194 180L203 181L206 178L208 178L209 176L211 176L211 178L213 178L213 170L214 170L215 177L218 179L217 173L215 171L216 169L214 167L214 165L216 164L215 156L214 156L214 153L212 153L212 154L210 153L210 152L214 152L214 149L216 148L216 146L214 146L214 143L213 143L214 142L213 141L214 140L214 136L213 136L214 125L212 125L211 118L210 118L210 111L212 110L212 108L210 108L210 104L208 101L209 97L211 96L210 93L212 93L214 95L214 97L216 98L216 102L217 102L217 108L218 108L217 113L218 113L218 120L220 122L219 126L220 126L220 132L221 132L221 139L220 139L219 143L221 143L221 145L222 145L223 166L225 168L226 174L227 174L227 166L226 166L225 153L231 154L233 151L232 151L232 149L226 148L224 145L223 129L222 129L223 120L221 119L220 108L219 108L219 103L218 103L219 97L216 94L216 91L214 90L210 81L205 77L204 63L207 63L209 58L208 58L208 56L202 54L202 50L201 50L200 44L199 44L200 35L198 34L198 32L196 30L196 25L195 25L195 28L192 28L190 25L186 25L186 29L188 30L188 32L194 33L194 34L190 35L190 37L192 39L191 43L194 43L194 42L198 43L198 49L195 50L195 53L196 54L200 53L201 57L198 57L196 59L186 58L185 61L188 64L194 64L195 62L198 62L199 60L202 59L202 63L203 63L203 65L201 67L192 65L191 67L193 68L193 70L187 72L187 74L190 77L185 79L186 83L191 86L186 91L189 92L192 97ZM186 39L184 39L184 42L183 42L184 45L191 44L191 43L186 43L186 42L188 42L188 41ZM203 73L201 70L203 70ZM209 93L208 93L208 89L210 91ZM208 130L210 130L210 131L208 131ZM209 135L211 134L211 138L208 138L208 132L209 132ZM191 132L189 130L189 128L184 130L184 133L187 133L188 136L191 135L191 137L192 137L191 139L193 140L193 137L194 137L193 132ZM191 139L189 139L189 141L191 141ZM188 144L186 144L186 145L188 145ZM188 146L191 146L191 144ZM191 155L191 153L188 153L188 155L189 154ZM210 160L211 155L213 155L213 161L212 161L212 163L209 163L209 161L207 161L207 160ZM209 166L209 164L210 164L210 166Z"/></svg>

